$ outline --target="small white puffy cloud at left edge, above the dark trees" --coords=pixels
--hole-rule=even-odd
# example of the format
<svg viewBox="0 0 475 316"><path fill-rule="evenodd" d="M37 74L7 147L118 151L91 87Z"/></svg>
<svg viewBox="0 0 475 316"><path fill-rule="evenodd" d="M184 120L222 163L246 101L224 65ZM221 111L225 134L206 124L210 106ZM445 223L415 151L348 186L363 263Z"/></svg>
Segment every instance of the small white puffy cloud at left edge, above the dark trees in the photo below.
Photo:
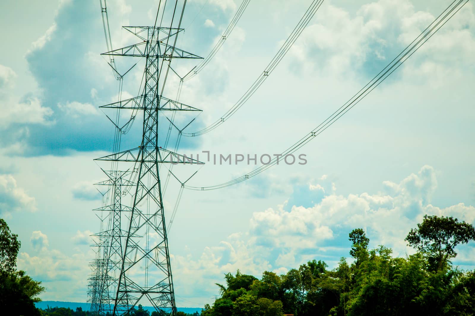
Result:
<svg viewBox="0 0 475 316"><path fill-rule="evenodd" d="M17 186L17 181L10 174L0 174L0 211L2 217L10 217L11 212L37 210L35 198Z"/></svg>

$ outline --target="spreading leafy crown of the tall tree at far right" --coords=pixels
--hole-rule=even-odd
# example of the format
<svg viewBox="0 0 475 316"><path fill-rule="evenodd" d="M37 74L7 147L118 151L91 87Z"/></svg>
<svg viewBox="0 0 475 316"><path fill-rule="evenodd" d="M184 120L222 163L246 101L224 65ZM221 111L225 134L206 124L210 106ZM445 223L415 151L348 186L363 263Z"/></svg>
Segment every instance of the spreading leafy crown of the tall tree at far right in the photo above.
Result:
<svg viewBox="0 0 475 316"><path fill-rule="evenodd" d="M455 258L455 247L475 240L475 228L454 217L424 215L424 220L412 228L404 239L410 246L428 256L432 270L439 271Z"/></svg>

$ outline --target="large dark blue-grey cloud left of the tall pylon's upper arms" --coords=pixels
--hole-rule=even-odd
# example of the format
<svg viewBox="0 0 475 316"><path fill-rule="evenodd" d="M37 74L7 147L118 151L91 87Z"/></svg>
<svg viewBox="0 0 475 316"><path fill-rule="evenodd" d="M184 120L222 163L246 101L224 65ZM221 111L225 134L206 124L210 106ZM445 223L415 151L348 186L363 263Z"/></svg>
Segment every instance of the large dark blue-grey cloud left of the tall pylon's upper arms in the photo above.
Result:
<svg viewBox="0 0 475 316"><path fill-rule="evenodd" d="M126 22L131 7L123 1L118 7L122 10L109 12L110 20ZM62 1L51 27L31 45L26 61L38 90L27 92L20 99L9 95L0 102L3 122L0 129L4 130L2 135L8 135L0 136L0 145L8 148L10 155L70 155L78 151L110 150L114 126L97 107L110 103L117 95L118 81L100 55L105 50L104 34L98 32L102 21L96 13L96 4ZM126 31L119 37L119 27L111 31L115 38L121 38L124 46L137 42L137 37ZM136 62L132 58L116 59L121 73ZM140 82L143 64L133 67L124 77L122 96L136 95L126 89L139 90L135 79L138 77ZM0 69L0 76L2 85L15 77L8 67ZM115 117L112 111L105 112ZM141 127L137 120L130 132L122 135L122 148L140 144ZM186 147L196 143L185 139L181 144Z"/></svg>

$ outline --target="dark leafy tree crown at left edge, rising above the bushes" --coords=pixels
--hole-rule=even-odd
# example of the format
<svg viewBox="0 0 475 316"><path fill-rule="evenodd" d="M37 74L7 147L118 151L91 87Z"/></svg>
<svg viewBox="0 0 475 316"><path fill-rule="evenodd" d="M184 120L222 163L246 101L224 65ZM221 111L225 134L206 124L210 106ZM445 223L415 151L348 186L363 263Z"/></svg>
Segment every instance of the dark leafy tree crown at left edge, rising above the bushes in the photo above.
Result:
<svg viewBox="0 0 475 316"><path fill-rule="evenodd" d="M17 265L17 255L21 243L18 235L12 234L7 223L0 218L0 272L13 272Z"/></svg>

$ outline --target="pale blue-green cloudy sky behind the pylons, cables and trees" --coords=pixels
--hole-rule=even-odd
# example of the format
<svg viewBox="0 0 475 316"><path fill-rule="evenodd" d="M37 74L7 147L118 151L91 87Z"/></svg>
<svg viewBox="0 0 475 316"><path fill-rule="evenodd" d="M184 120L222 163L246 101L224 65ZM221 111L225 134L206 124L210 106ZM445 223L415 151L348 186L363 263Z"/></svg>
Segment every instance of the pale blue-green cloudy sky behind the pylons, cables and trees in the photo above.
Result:
<svg viewBox="0 0 475 316"><path fill-rule="evenodd" d="M310 2L250 1L218 54L183 85L180 102L203 110L190 130L217 120L246 92ZM136 41L121 26L151 25L158 8L153 0L107 4L114 48ZM206 56L239 5L189 0L177 46ZM325 0L247 103L212 132L183 137L179 152L282 152L446 7L442 0ZM90 235L99 230L92 209L101 205L93 183L104 180L93 159L111 152L114 132L98 107L118 94L100 55L106 45L99 4L3 1L0 12L1 42L8 43L0 51L0 217L19 235L18 268L47 288L41 298L85 302L94 258ZM469 1L387 81L299 149L306 164L280 163L221 190L185 190L169 232L177 306L211 303L218 294L214 283L237 269L259 277L312 259L333 268L350 256L353 228L366 231L370 247L384 244L405 256L414 250L404 238L425 214L475 224L473 56ZM137 60L116 62L123 73ZM185 74L194 63L173 65ZM124 99L137 94L142 72L139 60L124 77ZM174 99L178 83L170 76L164 96ZM140 131L136 119L122 148L140 144ZM218 184L255 167L207 163L189 184ZM180 172L190 173L184 168ZM171 181L168 215L179 188ZM455 264L475 267L475 243L458 253Z"/></svg>

